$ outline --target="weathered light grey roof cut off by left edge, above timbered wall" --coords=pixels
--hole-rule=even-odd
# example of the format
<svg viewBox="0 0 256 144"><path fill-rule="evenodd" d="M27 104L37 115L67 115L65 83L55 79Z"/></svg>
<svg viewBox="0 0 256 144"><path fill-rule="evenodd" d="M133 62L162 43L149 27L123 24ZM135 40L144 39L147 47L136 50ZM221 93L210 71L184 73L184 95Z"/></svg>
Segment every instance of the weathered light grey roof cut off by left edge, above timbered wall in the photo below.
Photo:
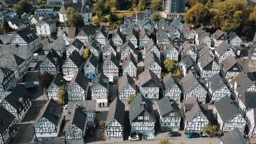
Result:
<svg viewBox="0 0 256 144"><path fill-rule="evenodd" d="M3 53L0 55L0 67L18 67L25 61L25 59L13 53Z"/></svg>

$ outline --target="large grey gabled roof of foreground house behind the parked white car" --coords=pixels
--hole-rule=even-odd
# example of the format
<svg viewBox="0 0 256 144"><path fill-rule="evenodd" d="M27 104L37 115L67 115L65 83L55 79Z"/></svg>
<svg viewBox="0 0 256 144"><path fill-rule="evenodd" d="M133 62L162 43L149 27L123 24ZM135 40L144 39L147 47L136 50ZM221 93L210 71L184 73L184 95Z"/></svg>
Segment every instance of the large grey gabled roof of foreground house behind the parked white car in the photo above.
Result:
<svg viewBox="0 0 256 144"><path fill-rule="evenodd" d="M139 94L129 105L130 123L143 111L147 112L148 115L156 122L152 104L142 94Z"/></svg>

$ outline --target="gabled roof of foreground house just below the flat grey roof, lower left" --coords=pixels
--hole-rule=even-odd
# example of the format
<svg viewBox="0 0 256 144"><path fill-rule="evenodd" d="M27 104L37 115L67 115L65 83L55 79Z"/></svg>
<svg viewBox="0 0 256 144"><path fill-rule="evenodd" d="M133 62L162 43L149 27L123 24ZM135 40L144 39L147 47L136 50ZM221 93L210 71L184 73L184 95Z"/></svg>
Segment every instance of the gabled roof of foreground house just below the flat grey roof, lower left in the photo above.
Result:
<svg viewBox="0 0 256 144"><path fill-rule="evenodd" d="M74 107L71 113L65 116L65 120L64 131L68 131L68 127L72 124L77 126L80 130L84 130L86 127L86 114L81 109L77 109L77 107Z"/></svg>

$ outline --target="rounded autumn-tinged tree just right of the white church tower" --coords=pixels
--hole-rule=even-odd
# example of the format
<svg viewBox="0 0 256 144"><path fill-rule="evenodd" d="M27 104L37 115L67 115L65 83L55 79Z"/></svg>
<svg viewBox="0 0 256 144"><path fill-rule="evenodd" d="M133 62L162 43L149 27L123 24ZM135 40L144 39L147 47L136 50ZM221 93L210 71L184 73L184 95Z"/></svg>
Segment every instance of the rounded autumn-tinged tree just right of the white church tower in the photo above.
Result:
<svg viewBox="0 0 256 144"><path fill-rule="evenodd" d="M84 26L83 16L80 15L75 9L72 7L67 8L66 10L66 25L68 27L76 27L80 28Z"/></svg>

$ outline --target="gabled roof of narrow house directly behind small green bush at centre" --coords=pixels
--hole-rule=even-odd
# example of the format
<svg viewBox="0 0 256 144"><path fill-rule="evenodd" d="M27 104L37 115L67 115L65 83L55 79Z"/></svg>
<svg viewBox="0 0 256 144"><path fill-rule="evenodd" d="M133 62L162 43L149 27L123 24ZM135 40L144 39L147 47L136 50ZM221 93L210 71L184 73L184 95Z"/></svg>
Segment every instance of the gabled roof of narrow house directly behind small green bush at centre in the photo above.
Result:
<svg viewBox="0 0 256 144"><path fill-rule="evenodd" d="M120 79L118 80L118 91L121 91L123 87L125 87L126 84L129 84L133 89L136 91L136 85L135 81L131 78L129 74L124 74Z"/></svg>

